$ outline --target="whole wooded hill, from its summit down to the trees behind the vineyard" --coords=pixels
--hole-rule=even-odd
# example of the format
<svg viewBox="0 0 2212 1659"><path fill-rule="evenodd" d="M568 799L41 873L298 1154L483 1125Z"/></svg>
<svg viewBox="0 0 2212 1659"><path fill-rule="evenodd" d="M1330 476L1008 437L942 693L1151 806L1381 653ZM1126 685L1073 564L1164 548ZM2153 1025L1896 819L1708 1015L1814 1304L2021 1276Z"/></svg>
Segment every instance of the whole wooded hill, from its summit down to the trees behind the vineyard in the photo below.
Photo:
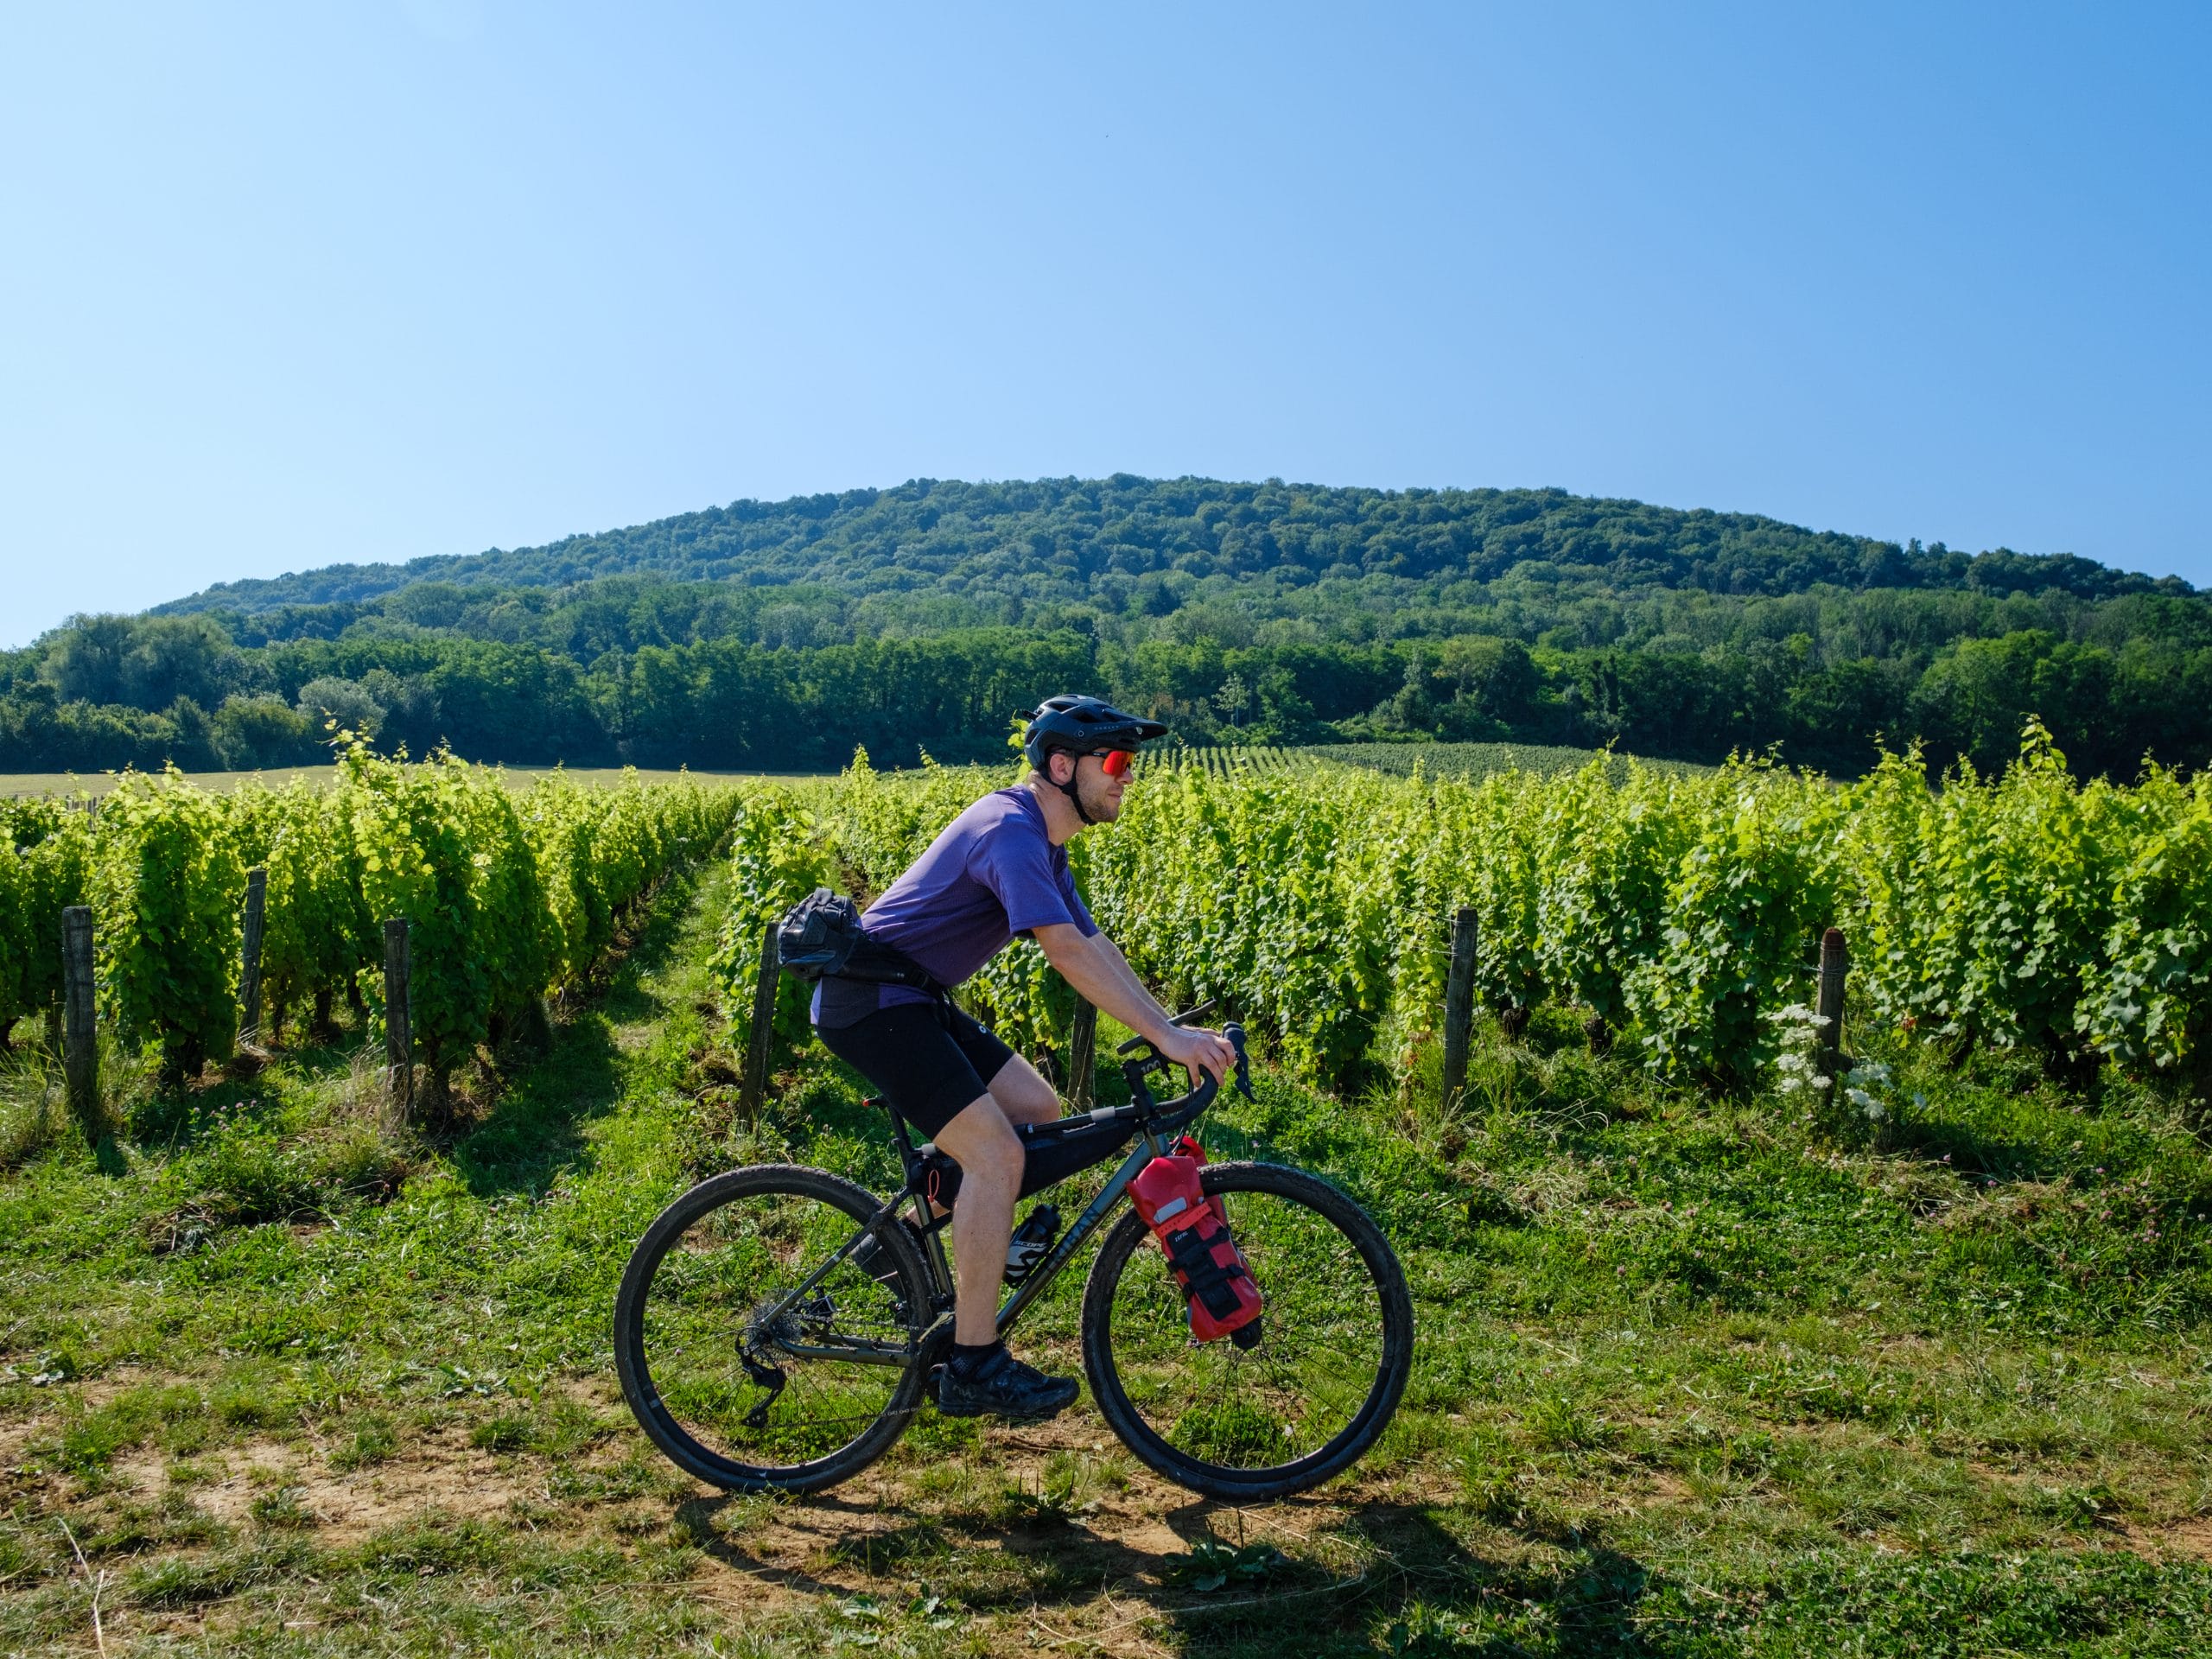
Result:
<svg viewBox="0 0 2212 1659"><path fill-rule="evenodd" d="M0 653L0 772L414 754L814 770L1004 754L1091 688L1192 743L1517 741L1849 774L1880 743L2212 761L2212 599L1562 491L918 480L237 582Z"/></svg>

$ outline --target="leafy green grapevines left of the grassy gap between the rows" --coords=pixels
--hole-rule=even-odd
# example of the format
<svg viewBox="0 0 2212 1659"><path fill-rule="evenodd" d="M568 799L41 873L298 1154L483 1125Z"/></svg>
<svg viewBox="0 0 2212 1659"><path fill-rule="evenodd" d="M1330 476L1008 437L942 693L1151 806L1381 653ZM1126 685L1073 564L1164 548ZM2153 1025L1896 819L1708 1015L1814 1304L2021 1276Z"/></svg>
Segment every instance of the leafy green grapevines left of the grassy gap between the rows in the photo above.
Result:
<svg viewBox="0 0 2212 1659"><path fill-rule="evenodd" d="M409 925L414 1042L431 1084L577 984L622 916L737 810L730 787L529 790L453 759L349 750L325 787L230 794L181 774L126 776L97 814L0 803L0 1040L62 991L62 909L88 905L100 1011L157 1046L175 1082L223 1060L239 1029L246 869L265 867L265 1024L330 1031L345 998L376 1015L383 922Z"/></svg>

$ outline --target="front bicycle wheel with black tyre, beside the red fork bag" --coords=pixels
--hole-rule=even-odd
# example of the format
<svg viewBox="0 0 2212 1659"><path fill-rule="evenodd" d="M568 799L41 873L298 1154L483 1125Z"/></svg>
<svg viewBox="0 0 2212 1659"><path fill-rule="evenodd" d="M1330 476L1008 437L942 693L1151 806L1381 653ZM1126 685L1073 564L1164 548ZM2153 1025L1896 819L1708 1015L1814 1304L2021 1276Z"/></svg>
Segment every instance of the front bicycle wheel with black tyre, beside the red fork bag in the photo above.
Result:
<svg viewBox="0 0 2212 1659"><path fill-rule="evenodd" d="M1148 1467L1223 1502L1318 1486L1389 1427L1413 1367L1413 1298L1383 1230L1316 1175L1208 1164L1267 1301L1250 1349L1194 1343L1181 1285L1135 1210L1084 1285L1084 1371Z"/></svg>

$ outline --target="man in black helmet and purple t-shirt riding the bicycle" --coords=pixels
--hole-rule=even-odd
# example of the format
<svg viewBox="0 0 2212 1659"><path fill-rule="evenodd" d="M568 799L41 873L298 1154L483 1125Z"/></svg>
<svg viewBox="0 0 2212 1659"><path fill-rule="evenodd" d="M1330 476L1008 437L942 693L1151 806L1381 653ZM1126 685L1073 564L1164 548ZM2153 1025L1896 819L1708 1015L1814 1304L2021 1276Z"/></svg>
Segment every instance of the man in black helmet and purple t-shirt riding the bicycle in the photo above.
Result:
<svg viewBox="0 0 2212 1659"><path fill-rule="evenodd" d="M1225 1079L1234 1048L1217 1031L1172 1022L1091 920L1068 874L1068 841L1121 816L1137 745L1166 730L1097 697L1040 703L1022 732L1029 776L945 825L867 907L867 936L956 987L1029 933L1077 995L1164 1057ZM1015 1124L1060 1117L1053 1086L949 1000L905 984L823 978L814 1029L830 1053L960 1166L953 1349L938 1378L938 1409L1035 1420L1073 1405L1075 1378L1044 1376L1013 1358L995 1327L1024 1166Z"/></svg>

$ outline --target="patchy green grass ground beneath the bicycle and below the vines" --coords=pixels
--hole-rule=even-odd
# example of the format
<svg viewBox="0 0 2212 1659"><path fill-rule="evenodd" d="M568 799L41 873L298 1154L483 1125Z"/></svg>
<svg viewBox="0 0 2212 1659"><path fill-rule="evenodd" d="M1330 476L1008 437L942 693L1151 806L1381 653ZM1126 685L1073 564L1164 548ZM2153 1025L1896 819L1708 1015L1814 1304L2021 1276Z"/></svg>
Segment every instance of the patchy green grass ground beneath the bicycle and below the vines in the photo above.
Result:
<svg viewBox="0 0 2212 1659"><path fill-rule="evenodd" d="M95 1588L108 1652L2212 1648L2212 1159L2154 1091L2002 1057L1896 1055L1924 1099L1858 1152L1551 1013L1451 1113L1429 1051L1360 1102L1263 1075L1210 1150L1327 1172L1416 1292L1354 1478L1225 1511L1079 1407L708 1493L611 1383L630 1241L734 1161L891 1175L814 1062L737 1119L717 909L670 887L449 1139L387 1130L341 1042L0 1175L0 1652L88 1652ZM1024 1352L1068 1363L1077 1296Z"/></svg>

